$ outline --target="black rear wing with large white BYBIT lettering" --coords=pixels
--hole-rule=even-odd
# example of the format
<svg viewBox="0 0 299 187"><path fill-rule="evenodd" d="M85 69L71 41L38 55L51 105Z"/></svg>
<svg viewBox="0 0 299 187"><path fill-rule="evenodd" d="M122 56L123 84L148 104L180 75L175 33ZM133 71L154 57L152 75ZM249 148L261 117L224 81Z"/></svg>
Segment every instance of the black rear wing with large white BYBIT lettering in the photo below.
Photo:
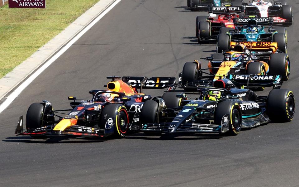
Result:
<svg viewBox="0 0 299 187"><path fill-rule="evenodd" d="M144 89L163 89L173 90L177 87L175 77L122 77L122 81L130 84L135 88Z"/></svg>

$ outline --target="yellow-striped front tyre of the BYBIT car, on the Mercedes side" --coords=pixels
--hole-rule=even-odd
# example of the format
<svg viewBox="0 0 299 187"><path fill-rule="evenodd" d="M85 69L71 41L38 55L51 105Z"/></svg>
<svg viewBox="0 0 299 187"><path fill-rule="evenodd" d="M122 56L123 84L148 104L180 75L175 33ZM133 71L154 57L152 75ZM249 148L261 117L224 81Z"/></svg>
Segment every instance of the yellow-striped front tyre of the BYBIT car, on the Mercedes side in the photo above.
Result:
<svg viewBox="0 0 299 187"><path fill-rule="evenodd" d="M129 129L129 113L122 104L111 103L106 105L100 116L100 125L105 127L106 123L112 123L114 136L124 137Z"/></svg>

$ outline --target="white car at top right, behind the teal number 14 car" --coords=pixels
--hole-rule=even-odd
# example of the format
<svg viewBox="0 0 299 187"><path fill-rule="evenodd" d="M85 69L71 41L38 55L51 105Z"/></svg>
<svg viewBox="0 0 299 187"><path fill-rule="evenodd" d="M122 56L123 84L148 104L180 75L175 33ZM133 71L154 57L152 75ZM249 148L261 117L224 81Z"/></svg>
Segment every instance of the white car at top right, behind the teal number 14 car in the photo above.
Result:
<svg viewBox="0 0 299 187"><path fill-rule="evenodd" d="M245 7L246 15L273 17L273 24L290 26L293 23L292 6L286 0L254 0Z"/></svg>

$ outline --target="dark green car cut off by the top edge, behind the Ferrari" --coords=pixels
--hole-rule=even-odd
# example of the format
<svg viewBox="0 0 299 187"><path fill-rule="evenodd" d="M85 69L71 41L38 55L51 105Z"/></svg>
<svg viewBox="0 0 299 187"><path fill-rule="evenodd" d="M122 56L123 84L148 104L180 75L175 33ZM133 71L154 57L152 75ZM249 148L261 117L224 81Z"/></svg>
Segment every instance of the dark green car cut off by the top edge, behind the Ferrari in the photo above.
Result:
<svg viewBox="0 0 299 187"><path fill-rule="evenodd" d="M191 11L206 11L210 7L239 7L243 0L187 0L187 6Z"/></svg>

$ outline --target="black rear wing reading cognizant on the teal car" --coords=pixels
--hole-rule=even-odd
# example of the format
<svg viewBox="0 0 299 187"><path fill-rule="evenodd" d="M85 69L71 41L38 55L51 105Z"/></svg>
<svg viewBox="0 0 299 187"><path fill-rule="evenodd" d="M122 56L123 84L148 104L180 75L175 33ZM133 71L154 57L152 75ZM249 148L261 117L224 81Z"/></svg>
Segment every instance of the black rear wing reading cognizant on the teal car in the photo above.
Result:
<svg viewBox="0 0 299 187"><path fill-rule="evenodd" d="M272 25L273 18L272 17L235 17L233 19L235 25Z"/></svg>

